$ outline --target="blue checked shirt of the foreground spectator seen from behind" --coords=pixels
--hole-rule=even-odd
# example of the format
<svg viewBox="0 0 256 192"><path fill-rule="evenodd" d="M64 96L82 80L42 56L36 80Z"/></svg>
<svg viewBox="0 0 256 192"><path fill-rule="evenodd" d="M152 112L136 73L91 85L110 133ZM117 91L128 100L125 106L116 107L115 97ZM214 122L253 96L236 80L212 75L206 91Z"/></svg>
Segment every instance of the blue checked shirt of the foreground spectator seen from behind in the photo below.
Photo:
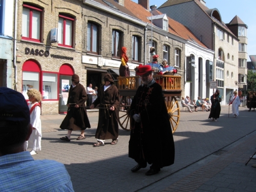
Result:
<svg viewBox="0 0 256 192"><path fill-rule="evenodd" d="M0 157L0 191L74 192L62 163L34 160L29 151Z"/></svg>

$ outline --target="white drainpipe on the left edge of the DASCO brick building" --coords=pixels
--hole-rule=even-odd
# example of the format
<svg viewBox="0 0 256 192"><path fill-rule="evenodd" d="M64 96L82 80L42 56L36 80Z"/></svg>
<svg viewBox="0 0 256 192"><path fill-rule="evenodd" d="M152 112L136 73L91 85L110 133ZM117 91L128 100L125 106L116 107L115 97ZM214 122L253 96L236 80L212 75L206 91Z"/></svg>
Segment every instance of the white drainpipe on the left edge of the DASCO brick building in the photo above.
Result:
<svg viewBox="0 0 256 192"><path fill-rule="evenodd" d="M14 8L14 41L13 41L13 67L14 67L14 90L17 91L17 65L16 65L16 42L17 42L17 4L18 0L15 0Z"/></svg>

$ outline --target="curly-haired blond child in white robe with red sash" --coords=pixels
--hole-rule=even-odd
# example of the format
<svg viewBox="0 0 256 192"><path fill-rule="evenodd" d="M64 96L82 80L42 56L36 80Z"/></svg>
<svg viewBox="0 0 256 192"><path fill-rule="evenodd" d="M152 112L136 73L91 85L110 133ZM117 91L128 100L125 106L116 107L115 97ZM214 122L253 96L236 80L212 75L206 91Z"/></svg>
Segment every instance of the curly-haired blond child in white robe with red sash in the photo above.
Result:
<svg viewBox="0 0 256 192"><path fill-rule="evenodd" d="M31 155L37 154L38 151L41 151L41 119L40 113L41 108L39 102L41 102L42 95L36 89L29 89L27 92L29 96L29 110L30 110L30 124L33 127L32 134L27 141L27 148L32 148L30 152Z"/></svg>

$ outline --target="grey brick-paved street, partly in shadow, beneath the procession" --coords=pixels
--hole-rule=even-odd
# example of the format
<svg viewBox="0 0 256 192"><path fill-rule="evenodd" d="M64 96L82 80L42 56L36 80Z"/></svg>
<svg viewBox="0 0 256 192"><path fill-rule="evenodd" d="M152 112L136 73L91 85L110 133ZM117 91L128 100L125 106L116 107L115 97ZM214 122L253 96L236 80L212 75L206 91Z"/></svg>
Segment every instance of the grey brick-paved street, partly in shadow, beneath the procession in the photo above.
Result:
<svg viewBox="0 0 256 192"><path fill-rule="evenodd" d="M86 139L59 140L67 134L59 125L65 115L41 116L42 151L35 159L53 159L64 163L76 192L252 192L256 191L256 160L245 162L256 151L256 112L239 108L233 118L228 107L221 107L218 122L210 122L209 112L181 112L174 134L175 164L164 167L157 175L146 176L145 169L132 173L136 165L128 158L129 132L119 129L119 142L93 147L98 112L88 112L92 128ZM157 141L155 142L157 145ZM218 155L216 155L218 154Z"/></svg>

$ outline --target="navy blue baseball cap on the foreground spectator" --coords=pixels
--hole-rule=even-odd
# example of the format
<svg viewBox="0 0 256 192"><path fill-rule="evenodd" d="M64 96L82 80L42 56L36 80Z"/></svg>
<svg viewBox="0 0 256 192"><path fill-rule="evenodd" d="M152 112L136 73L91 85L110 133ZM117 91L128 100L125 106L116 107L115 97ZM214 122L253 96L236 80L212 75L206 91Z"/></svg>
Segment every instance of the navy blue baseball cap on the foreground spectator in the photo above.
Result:
<svg viewBox="0 0 256 192"><path fill-rule="evenodd" d="M29 106L20 92L7 87L0 87L0 124L1 120L29 125Z"/></svg>

